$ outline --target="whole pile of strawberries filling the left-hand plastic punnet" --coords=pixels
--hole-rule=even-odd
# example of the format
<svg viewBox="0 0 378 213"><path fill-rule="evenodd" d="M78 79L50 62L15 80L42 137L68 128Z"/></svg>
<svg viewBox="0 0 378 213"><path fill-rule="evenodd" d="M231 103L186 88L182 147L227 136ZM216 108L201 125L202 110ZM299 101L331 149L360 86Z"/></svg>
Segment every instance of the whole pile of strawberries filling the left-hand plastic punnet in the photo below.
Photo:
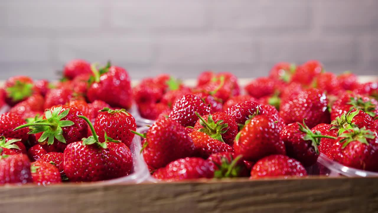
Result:
<svg viewBox="0 0 378 213"><path fill-rule="evenodd" d="M15 76L0 92L0 185L90 182L133 172L126 70L74 60L56 84Z"/></svg>

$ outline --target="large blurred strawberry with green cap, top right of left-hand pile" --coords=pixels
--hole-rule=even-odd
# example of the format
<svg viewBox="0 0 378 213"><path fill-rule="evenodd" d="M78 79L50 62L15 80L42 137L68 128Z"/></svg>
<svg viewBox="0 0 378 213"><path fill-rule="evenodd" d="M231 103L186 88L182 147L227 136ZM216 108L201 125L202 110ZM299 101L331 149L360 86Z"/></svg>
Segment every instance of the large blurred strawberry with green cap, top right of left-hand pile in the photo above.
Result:
<svg viewBox="0 0 378 213"><path fill-rule="evenodd" d="M93 67L95 77L87 91L88 100L102 100L113 107L129 109L132 104L129 74L122 67L107 67L99 71Z"/></svg>

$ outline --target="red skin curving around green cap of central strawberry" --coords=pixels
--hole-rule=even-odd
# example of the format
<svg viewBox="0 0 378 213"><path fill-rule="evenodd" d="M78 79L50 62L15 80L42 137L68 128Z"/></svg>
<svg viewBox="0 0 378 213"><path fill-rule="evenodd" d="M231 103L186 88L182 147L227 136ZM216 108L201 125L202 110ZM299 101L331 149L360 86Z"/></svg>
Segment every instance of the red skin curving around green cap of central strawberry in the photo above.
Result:
<svg viewBox="0 0 378 213"><path fill-rule="evenodd" d="M205 121L208 121L208 116L209 115L203 115L202 118ZM227 132L222 133L221 135L222 135L223 141L225 141L226 144L229 144L232 146L232 144L234 144L235 136L238 133L238 126L235 120L231 116L223 112L213 113L212 119L214 120L215 123L217 123L219 120L223 120L221 124L228 124ZM203 128L203 126L201 125L201 122L198 119L198 121L194 125L194 131L198 131L201 128Z"/></svg>

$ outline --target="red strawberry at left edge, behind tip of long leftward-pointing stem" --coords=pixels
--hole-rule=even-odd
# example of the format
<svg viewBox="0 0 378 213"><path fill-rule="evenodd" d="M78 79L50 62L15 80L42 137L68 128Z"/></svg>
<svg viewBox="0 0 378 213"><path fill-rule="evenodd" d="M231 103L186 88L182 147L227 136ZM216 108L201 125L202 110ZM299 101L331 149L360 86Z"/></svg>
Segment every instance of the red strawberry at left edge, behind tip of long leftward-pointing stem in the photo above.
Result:
<svg viewBox="0 0 378 213"><path fill-rule="evenodd" d="M28 130L21 129L14 131L13 129L26 124L25 120L23 120L18 114L14 113L4 113L0 115L0 135L4 136L5 138L19 138L22 142L26 142L28 140Z"/></svg>

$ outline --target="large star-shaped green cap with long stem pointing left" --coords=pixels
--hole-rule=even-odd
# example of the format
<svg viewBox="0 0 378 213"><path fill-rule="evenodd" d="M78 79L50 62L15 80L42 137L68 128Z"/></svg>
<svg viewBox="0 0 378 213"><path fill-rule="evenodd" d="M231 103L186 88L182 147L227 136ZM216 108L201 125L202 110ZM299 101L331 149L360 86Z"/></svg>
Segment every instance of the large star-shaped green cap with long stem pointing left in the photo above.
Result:
<svg viewBox="0 0 378 213"><path fill-rule="evenodd" d="M53 113L51 113L50 110L46 110L45 120L35 121L31 124L21 125L15 128L14 131L25 127L32 127L32 130L28 132L28 134L36 134L43 132L40 138L38 139L38 142L40 143L47 140L47 144L51 145L54 143L54 138L56 138L58 141L62 143L67 143L66 139L63 137L62 127L72 126L74 125L74 122L68 120L61 121L64 117L68 115L70 109L67 109L60 113L61 110L62 107L55 108L53 110Z"/></svg>

